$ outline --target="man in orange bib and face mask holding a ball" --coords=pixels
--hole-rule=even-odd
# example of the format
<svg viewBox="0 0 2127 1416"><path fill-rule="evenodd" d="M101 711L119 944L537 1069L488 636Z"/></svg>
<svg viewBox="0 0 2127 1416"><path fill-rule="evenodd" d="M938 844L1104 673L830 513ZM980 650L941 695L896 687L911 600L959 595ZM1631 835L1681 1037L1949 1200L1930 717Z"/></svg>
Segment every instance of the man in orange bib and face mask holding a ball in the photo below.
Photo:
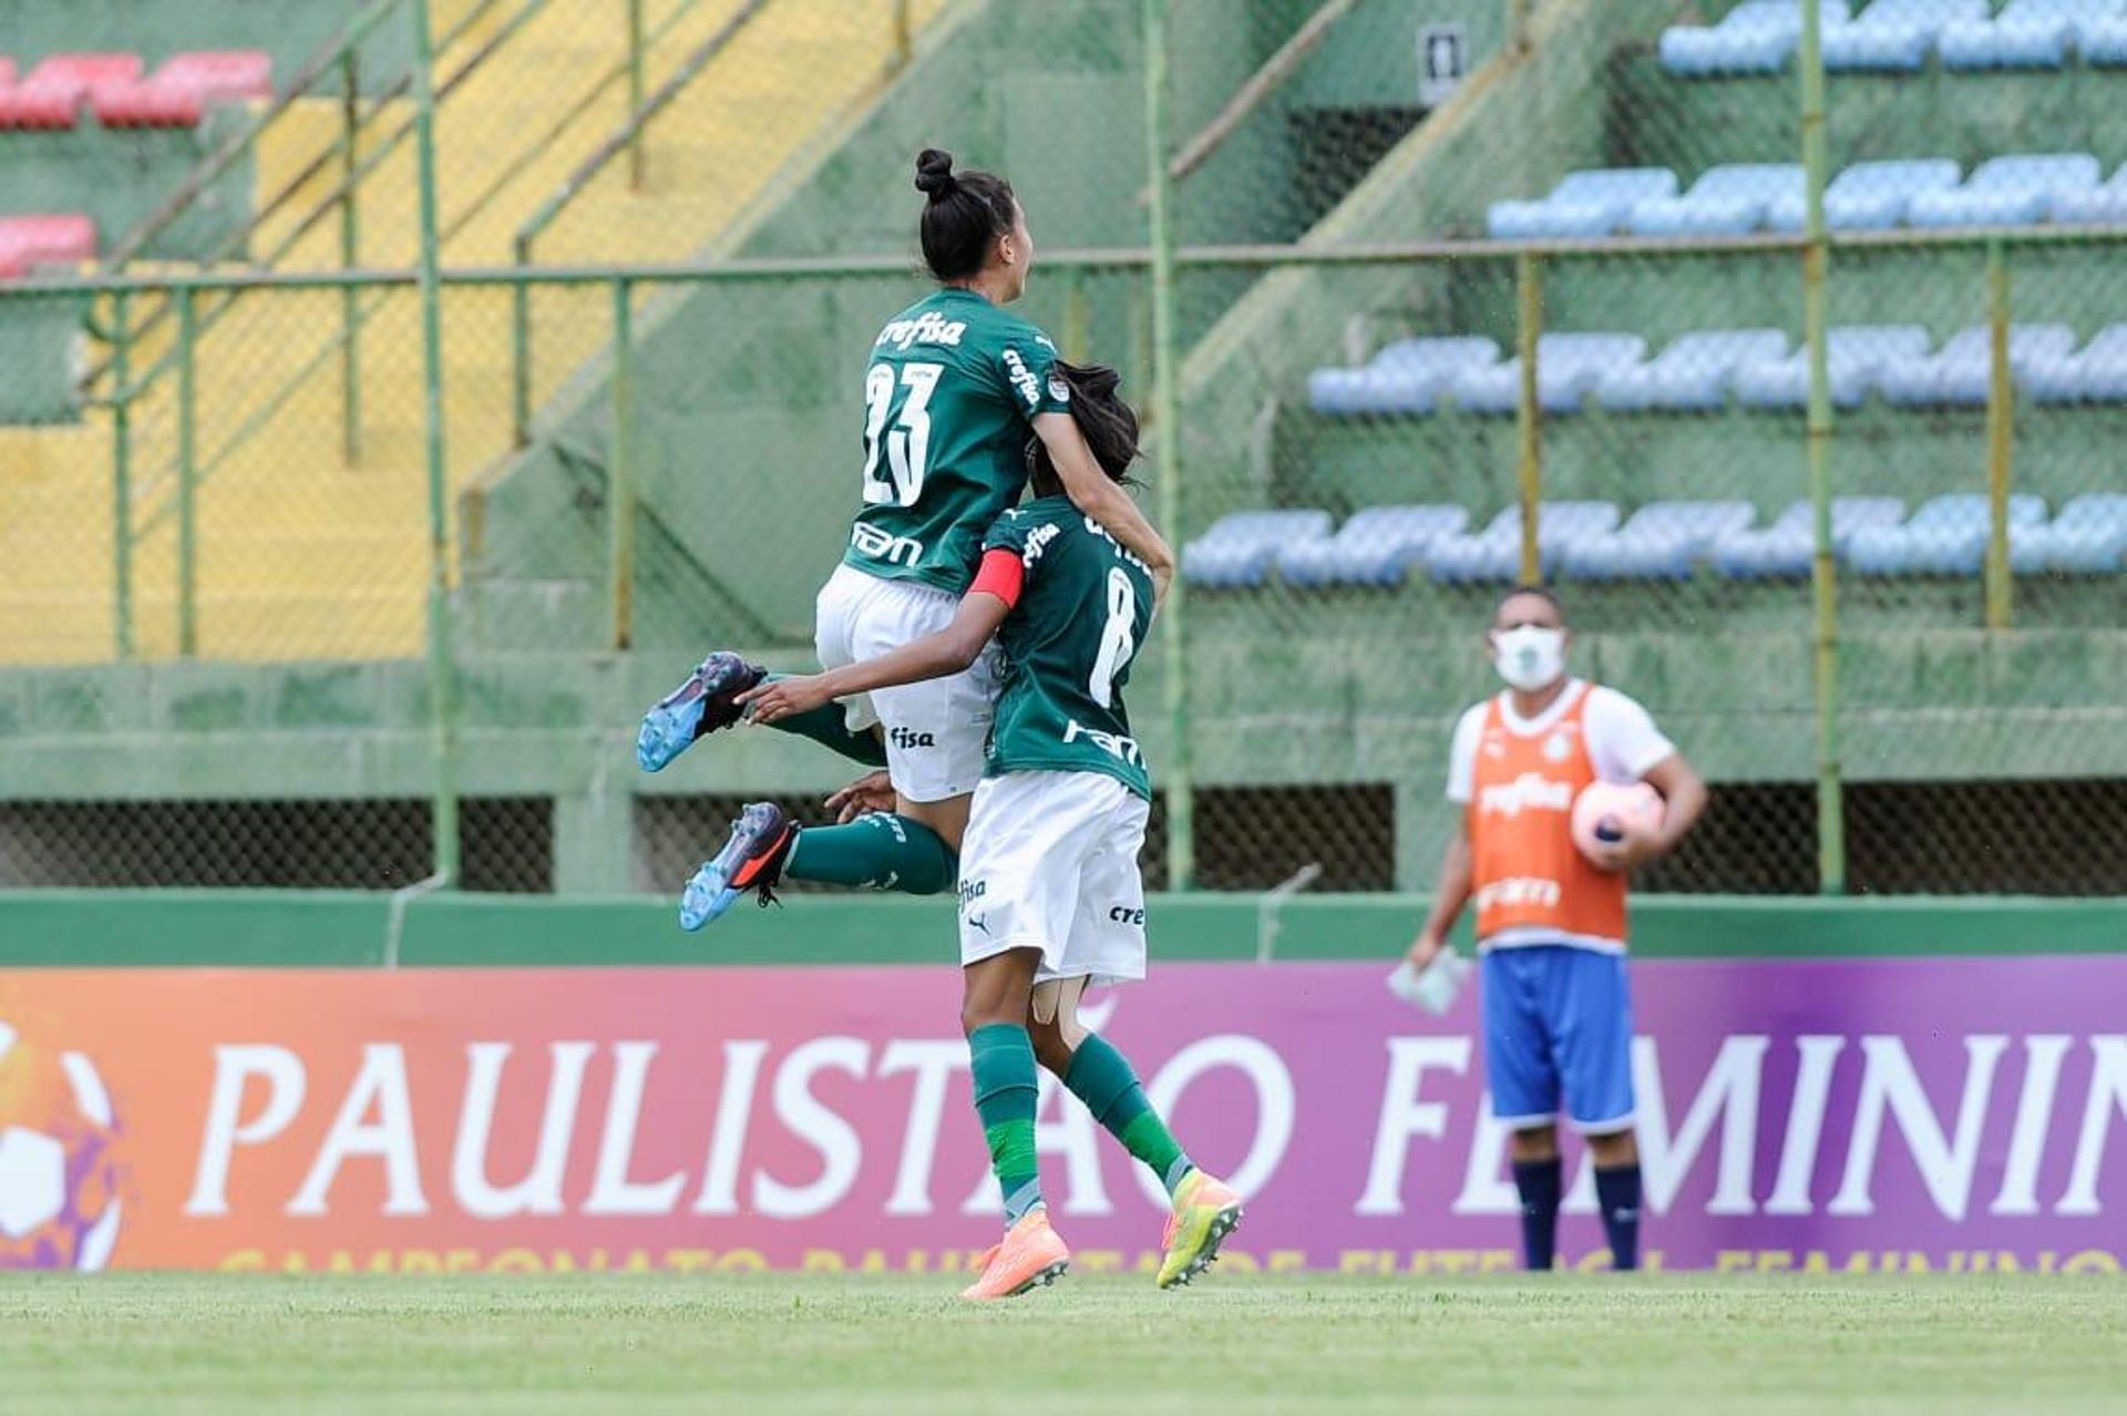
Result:
<svg viewBox="0 0 2127 1416"><path fill-rule="evenodd" d="M1548 1269L1559 1229L1559 1112L1587 1137L1614 1267L1640 1263L1640 1150L1631 1135L1631 993L1625 876L1685 838L1706 785L1646 708L1565 672L1565 614L1551 591L1517 587L1487 646L1506 691L1463 712L1448 757L1457 831L1434 908L1410 946L1425 970L1476 899L1485 970L1485 1076L1512 1131L1521 1237ZM1591 861L1574 846L1574 797L1589 782L1648 782L1665 816ZM1563 1106L1561 1106L1563 1103Z"/></svg>

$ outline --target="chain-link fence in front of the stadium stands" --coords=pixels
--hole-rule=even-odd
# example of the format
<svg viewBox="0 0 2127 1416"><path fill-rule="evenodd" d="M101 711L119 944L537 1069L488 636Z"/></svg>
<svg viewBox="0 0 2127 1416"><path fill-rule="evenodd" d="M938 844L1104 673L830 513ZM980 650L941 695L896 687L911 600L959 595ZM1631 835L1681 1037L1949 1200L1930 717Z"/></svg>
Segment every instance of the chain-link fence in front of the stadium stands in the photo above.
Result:
<svg viewBox="0 0 2127 1416"><path fill-rule="evenodd" d="M389 887L449 799L466 884L670 891L738 802L813 814L855 770L810 744L627 744L706 648L808 668L938 142L1015 179L1027 317L1149 410L1174 381L1155 882L1180 842L1204 889L1423 889L1485 625L1542 578L1714 782L1646 887L2127 889L2127 68L1855 9L1819 240L1782 0L468 0L440 253L525 268L438 300L449 640L411 153L357 187L385 274L325 274L328 162L274 262L317 285L0 287L17 387L74 400L0 429L0 655L47 665L0 672L0 876Z"/></svg>

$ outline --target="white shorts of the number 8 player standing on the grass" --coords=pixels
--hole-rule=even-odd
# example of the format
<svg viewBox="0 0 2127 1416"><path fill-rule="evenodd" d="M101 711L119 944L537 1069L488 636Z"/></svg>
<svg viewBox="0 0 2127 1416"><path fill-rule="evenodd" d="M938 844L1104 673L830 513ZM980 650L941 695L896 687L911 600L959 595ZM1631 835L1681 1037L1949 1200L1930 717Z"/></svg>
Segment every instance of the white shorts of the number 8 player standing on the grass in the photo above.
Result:
<svg viewBox="0 0 2127 1416"><path fill-rule="evenodd" d="M1036 982L1144 978L1151 804L1100 772L1006 772L974 789L959 853L961 965L1042 950Z"/></svg>

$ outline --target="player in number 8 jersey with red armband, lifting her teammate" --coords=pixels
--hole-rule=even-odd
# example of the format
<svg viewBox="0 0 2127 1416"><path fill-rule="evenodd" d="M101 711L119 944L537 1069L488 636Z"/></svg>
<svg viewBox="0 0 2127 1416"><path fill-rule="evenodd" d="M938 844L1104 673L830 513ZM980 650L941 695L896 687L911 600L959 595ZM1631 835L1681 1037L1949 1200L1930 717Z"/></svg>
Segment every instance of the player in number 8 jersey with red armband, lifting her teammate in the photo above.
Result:
<svg viewBox="0 0 2127 1416"><path fill-rule="evenodd" d="M1102 470L1121 483L1138 421L1115 395L1115 370L1057 370ZM1036 1065L1166 1184L1174 1214L1161 1288L1202 1274L1240 1223L1240 1197L1191 1165L1129 1061L1078 1021L1089 982L1144 978L1138 850L1151 778L1123 685L1153 619L1153 576L1072 506L1046 444L1034 449L1034 493L991 527L981 572L942 631L740 695L757 723L778 723L855 693L961 674L991 636L1004 651L959 876L961 1027L1006 1225L970 1299L1025 1293L1070 1265L1034 1161Z"/></svg>

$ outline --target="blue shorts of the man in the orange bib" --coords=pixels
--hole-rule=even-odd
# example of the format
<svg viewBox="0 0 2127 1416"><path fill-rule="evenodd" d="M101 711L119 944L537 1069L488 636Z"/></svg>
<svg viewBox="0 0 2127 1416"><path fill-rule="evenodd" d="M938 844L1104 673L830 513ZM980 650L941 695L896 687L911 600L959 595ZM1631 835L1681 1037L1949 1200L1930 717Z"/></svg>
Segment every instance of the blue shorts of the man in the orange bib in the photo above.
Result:
<svg viewBox="0 0 2127 1416"><path fill-rule="evenodd" d="M1580 1131L1631 1127L1631 989L1623 955L1523 944L1485 955L1485 1076L1491 1114Z"/></svg>

